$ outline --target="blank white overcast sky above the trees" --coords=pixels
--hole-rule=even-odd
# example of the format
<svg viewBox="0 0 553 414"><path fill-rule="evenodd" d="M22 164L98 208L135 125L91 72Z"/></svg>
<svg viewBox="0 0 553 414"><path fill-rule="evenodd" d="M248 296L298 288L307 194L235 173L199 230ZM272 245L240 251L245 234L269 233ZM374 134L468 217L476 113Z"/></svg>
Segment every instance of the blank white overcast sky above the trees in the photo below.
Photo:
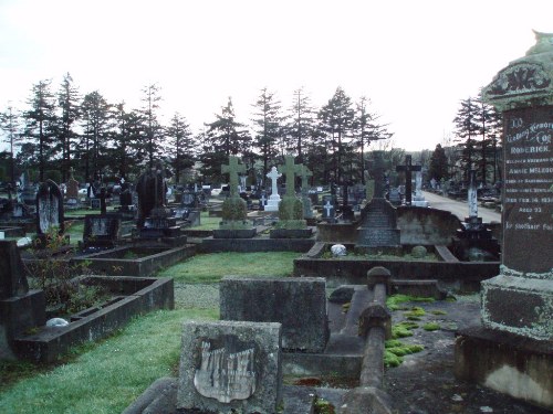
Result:
<svg viewBox="0 0 553 414"><path fill-rule="evenodd" d="M337 86L389 123L396 147L434 149L476 96L553 32L551 0L0 0L0 110L70 73L81 94L139 106L161 87L163 123L194 132L232 97L239 121L268 87L283 108Z"/></svg>

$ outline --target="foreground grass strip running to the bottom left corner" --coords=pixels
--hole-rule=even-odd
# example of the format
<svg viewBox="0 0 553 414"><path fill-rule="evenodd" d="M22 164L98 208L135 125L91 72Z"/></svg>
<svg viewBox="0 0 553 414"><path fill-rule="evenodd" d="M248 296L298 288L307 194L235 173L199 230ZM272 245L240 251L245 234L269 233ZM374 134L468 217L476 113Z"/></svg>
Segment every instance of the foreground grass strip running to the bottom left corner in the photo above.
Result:
<svg viewBox="0 0 553 414"><path fill-rule="evenodd" d="M106 340L75 348L65 363L15 382L13 367L8 375L0 361L0 413L121 413L152 382L176 375L184 320L217 318L217 309L152 312ZM20 365L29 375L29 365Z"/></svg>

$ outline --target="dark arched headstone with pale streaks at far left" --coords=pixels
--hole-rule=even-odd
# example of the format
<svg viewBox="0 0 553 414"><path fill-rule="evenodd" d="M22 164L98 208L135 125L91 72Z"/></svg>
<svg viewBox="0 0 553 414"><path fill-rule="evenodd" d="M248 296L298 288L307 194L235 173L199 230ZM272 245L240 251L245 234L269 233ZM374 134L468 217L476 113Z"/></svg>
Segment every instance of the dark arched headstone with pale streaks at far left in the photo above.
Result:
<svg viewBox="0 0 553 414"><path fill-rule="evenodd" d="M65 230L63 195L55 182L46 180L40 184L36 193L36 234L46 235L54 227L58 227L59 234Z"/></svg>

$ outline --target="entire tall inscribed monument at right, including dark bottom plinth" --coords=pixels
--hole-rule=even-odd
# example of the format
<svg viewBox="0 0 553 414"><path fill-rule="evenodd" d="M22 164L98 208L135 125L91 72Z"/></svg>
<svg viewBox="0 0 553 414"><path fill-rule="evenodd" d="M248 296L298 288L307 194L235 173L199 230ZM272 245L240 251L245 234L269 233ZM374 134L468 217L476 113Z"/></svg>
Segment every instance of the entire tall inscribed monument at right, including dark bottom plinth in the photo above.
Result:
<svg viewBox="0 0 553 414"><path fill-rule="evenodd" d="M535 35L482 91L503 113L502 264L482 283L483 328L457 339L456 372L553 408L553 34Z"/></svg>

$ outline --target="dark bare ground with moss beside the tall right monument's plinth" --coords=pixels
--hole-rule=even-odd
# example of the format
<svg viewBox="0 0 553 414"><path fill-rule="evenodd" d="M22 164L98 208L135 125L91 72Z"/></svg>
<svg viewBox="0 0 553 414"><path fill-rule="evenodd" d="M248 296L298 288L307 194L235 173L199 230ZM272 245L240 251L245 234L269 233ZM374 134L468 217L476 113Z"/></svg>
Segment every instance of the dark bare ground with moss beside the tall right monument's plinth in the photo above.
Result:
<svg viewBox="0 0 553 414"><path fill-rule="evenodd" d="M458 297L457 301L451 302L407 302L401 306L406 309L393 311L394 323L407 320L405 312L415 306L425 309L420 320L415 321L419 328L413 330L413 337L400 339L405 343L422 344L425 350L404 357L401 365L386 370L384 386L394 401L396 413L551 413L455 378L455 331L480 323L478 295ZM422 329L429 322L437 322L440 329Z"/></svg>

